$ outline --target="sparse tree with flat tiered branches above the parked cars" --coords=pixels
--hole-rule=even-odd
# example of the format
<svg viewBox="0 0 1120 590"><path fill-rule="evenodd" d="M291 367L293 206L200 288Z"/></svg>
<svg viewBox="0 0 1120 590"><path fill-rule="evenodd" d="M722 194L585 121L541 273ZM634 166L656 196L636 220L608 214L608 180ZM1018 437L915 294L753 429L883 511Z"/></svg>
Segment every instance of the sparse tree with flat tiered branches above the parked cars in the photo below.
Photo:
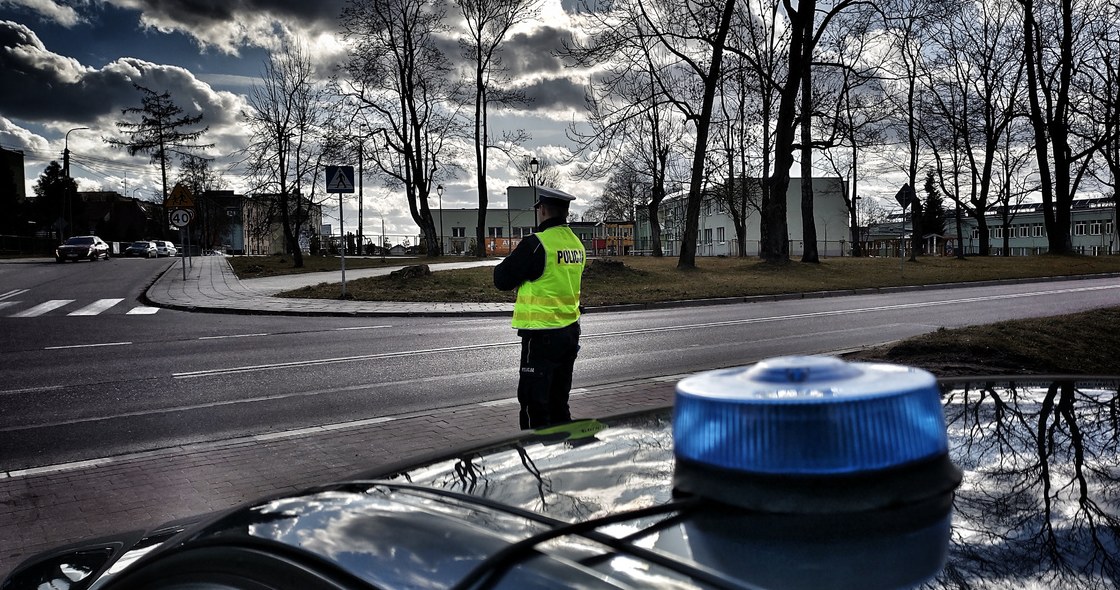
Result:
<svg viewBox="0 0 1120 590"><path fill-rule="evenodd" d="M183 109L171 101L171 93L157 94L139 84L133 84L141 93L140 106L121 111L125 116L139 116L138 121L119 121L116 128L128 139L106 139L114 148L124 148L129 156L146 153L152 163L159 165L162 179L164 200L167 200L167 168L174 153L190 153L213 148L213 143L195 143L209 128L188 131L202 122L203 114L185 115Z"/></svg>

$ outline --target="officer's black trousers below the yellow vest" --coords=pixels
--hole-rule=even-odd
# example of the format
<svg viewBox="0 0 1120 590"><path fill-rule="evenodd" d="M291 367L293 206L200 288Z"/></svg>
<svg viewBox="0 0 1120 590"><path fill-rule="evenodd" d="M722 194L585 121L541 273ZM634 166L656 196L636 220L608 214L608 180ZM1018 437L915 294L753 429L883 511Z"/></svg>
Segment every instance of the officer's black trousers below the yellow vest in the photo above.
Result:
<svg viewBox="0 0 1120 590"><path fill-rule="evenodd" d="M568 393L579 353L579 322L549 330L519 330L521 335L521 429L539 429L571 421Z"/></svg>

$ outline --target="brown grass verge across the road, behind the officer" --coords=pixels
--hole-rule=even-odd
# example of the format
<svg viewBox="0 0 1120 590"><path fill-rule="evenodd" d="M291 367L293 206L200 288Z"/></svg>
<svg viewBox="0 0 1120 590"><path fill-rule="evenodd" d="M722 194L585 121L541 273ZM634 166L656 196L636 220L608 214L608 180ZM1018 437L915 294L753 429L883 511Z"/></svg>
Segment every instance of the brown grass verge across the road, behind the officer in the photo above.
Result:
<svg viewBox="0 0 1120 590"><path fill-rule="evenodd" d="M307 268L302 272L314 272L309 270L312 264L315 270L338 270L337 259L326 262L315 259L305 259ZM283 272L279 263L265 266L263 260L265 257L233 257L231 262L241 278ZM386 259L385 265L465 260L469 259ZM329 266L330 261L334 266ZM287 264L290 266L290 261ZM375 266L381 262L380 259L354 259L352 265L352 259L346 259L347 269L363 268L357 264ZM494 289L493 272L486 266L432 272L407 280L392 277L356 279L346 281L346 292L348 299L366 301L512 302L512 292ZM757 259L699 257L692 270L676 269L675 257L627 256L591 259L584 275L581 300L587 307L597 307L1099 273L1120 273L1120 256L977 256L964 260L922 256L915 262L846 256L822 259L819 264L792 261L783 265ZM337 299L339 293L338 282L332 281L287 291L280 297Z"/></svg>

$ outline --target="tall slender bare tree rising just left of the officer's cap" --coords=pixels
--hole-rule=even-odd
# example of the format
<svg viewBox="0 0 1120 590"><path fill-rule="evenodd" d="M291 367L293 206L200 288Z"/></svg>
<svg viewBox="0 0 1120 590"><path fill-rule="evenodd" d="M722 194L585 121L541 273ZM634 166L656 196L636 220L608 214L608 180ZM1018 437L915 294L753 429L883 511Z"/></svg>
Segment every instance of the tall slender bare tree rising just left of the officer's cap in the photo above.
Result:
<svg viewBox="0 0 1120 590"><path fill-rule="evenodd" d="M510 28L535 15L538 0L456 0L466 20L468 36L463 45L474 65L474 147L475 178L478 184L478 224L475 226L477 255L486 256L487 147L489 146L491 104L510 105L526 102L520 92L501 87L507 82L502 68L501 48ZM523 133L507 137L506 143L524 139Z"/></svg>

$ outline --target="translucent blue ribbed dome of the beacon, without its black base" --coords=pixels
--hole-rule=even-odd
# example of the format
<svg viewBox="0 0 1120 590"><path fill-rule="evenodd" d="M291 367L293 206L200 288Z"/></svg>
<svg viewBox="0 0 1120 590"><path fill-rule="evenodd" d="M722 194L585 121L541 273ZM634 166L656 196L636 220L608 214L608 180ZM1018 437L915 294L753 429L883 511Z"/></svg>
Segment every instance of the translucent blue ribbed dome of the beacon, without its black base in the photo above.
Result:
<svg viewBox="0 0 1120 590"><path fill-rule="evenodd" d="M941 396L925 371L788 356L676 386L679 461L767 476L842 476L944 457Z"/></svg>

